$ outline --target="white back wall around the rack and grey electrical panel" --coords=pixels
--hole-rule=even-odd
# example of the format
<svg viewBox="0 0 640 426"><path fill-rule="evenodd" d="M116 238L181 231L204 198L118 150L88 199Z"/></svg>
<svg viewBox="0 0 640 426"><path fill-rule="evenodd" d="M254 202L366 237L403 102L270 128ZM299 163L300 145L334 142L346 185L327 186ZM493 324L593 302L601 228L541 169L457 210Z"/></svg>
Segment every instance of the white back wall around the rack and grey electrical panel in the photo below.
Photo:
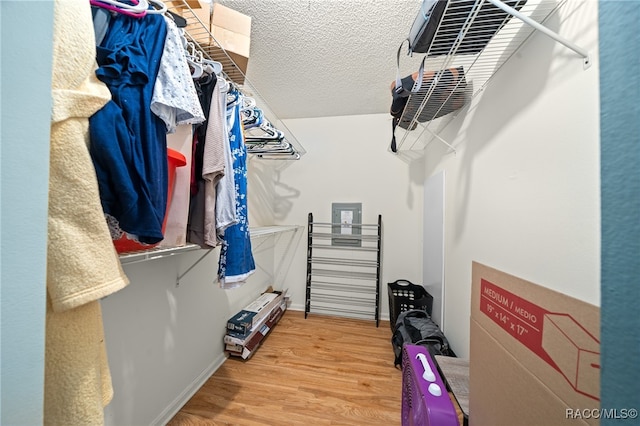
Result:
<svg viewBox="0 0 640 426"><path fill-rule="evenodd" d="M287 120L307 153L276 176L275 221L306 226L308 213L331 221L331 203L362 202L362 221L383 222L380 302L388 318L387 282L422 279L423 166L388 152L388 114ZM306 235L306 230L304 231ZM304 309L306 238L295 252L285 286Z"/></svg>

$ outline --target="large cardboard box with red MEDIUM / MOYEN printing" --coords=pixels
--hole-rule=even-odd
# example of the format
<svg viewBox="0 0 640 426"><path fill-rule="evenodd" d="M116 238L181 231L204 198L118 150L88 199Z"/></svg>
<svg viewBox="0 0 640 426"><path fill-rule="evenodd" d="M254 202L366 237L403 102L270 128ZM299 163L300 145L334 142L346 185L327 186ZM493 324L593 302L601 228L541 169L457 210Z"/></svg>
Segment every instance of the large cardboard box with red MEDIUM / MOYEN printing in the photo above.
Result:
<svg viewBox="0 0 640 426"><path fill-rule="evenodd" d="M599 424L600 309L473 263L469 421Z"/></svg>

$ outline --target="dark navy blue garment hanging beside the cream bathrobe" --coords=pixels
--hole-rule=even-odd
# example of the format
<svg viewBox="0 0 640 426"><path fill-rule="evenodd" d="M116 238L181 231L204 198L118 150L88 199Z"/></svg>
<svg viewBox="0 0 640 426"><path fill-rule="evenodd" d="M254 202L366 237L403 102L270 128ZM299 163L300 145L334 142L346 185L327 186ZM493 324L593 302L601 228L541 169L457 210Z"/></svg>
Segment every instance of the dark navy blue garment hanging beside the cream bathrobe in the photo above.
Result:
<svg viewBox="0 0 640 426"><path fill-rule="evenodd" d="M120 229L142 243L163 238L166 125L150 106L166 34L161 15L116 14L97 47L96 74L113 100L91 117L91 156L113 239L122 235Z"/></svg>

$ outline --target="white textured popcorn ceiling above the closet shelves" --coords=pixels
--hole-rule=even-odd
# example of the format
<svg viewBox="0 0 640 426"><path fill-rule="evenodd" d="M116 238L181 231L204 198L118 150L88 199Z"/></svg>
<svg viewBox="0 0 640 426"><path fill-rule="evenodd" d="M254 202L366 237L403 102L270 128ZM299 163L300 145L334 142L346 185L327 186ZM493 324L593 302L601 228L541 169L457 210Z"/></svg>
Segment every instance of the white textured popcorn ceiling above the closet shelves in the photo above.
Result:
<svg viewBox="0 0 640 426"><path fill-rule="evenodd" d="M252 17L247 77L279 118L388 113L420 0L215 0ZM402 76L419 57L400 57Z"/></svg>

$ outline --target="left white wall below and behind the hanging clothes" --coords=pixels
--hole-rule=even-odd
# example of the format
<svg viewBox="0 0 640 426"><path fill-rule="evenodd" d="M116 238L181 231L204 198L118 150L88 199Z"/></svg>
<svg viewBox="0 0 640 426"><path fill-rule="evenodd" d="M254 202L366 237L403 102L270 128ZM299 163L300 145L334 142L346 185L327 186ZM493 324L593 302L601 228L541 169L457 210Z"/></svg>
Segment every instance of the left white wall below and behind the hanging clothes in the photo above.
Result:
<svg viewBox="0 0 640 426"><path fill-rule="evenodd" d="M270 197L274 165L250 163L252 227L273 224ZM114 398L105 409L105 424L168 421L225 362L227 319L269 285L282 289L277 278L284 273L283 263L274 262L274 251L288 253L291 242L301 234L299 230L252 238L256 272L247 283L231 290L221 289L216 280L219 248L204 258L207 251L197 250L125 264L131 283L102 300L114 386ZM274 265L280 268L274 269Z"/></svg>

